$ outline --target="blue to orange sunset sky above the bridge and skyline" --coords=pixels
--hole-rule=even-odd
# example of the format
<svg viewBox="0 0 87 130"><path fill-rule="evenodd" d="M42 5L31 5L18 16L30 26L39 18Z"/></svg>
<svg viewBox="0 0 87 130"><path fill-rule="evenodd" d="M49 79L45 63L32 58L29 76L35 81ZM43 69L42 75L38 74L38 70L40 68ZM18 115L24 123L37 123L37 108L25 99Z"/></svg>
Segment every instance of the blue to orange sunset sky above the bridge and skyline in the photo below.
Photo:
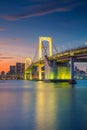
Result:
<svg viewBox="0 0 87 130"><path fill-rule="evenodd" d="M57 50L87 44L86 0L0 0L0 72L33 58L39 36Z"/></svg>

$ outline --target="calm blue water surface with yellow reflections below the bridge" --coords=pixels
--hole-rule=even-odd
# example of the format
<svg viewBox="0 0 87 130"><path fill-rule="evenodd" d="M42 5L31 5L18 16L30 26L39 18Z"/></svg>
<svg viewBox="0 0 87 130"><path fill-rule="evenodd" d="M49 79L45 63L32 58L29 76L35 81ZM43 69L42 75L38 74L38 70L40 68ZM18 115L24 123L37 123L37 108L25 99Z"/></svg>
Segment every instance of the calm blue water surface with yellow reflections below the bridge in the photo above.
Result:
<svg viewBox="0 0 87 130"><path fill-rule="evenodd" d="M0 81L0 130L87 130L87 80Z"/></svg>

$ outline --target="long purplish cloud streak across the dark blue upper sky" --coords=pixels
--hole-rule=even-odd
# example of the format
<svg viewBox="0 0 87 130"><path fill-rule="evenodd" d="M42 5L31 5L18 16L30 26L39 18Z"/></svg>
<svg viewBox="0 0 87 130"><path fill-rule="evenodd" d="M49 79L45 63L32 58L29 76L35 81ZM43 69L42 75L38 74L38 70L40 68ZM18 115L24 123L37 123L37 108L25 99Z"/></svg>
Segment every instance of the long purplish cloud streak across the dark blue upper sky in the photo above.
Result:
<svg viewBox="0 0 87 130"><path fill-rule="evenodd" d="M33 3L25 6L25 11L21 10L21 14L18 12L16 14L7 14L2 16L5 20L18 20L23 18L29 18L34 16L46 15L54 12L67 12L72 10L74 7L81 5L82 2L75 2L73 0L48 0L48 1L35 1ZM24 9L24 8L23 8Z"/></svg>

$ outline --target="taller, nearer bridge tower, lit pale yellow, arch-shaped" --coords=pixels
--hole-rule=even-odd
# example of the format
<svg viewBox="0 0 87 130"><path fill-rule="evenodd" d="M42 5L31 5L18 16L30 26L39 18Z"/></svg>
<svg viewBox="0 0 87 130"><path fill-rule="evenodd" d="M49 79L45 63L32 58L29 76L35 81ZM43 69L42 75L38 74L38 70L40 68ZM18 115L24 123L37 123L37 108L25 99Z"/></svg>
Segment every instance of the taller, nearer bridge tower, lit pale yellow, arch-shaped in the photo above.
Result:
<svg viewBox="0 0 87 130"><path fill-rule="evenodd" d="M43 41L48 42L48 47L49 47L48 56L52 56L52 38L51 37L39 37L39 46L38 46L39 61L42 60L42 57L43 57L43 49L44 49ZM42 66L43 65L41 63L39 63L39 79L40 80L42 79Z"/></svg>

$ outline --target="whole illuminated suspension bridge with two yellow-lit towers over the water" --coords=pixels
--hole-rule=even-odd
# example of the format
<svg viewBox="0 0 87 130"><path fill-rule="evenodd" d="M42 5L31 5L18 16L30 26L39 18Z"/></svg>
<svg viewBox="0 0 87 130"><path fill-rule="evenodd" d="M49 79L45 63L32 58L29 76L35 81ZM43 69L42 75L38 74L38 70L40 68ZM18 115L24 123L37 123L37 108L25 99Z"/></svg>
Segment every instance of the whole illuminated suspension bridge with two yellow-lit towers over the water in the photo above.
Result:
<svg viewBox="0 0 87 130"><path fill-rule="evenodd" d="M53 53L51 37L39 37L34 59L25 59L25 80L69 81L75 83L76 62L87 63L87 46ZM37 57L37 58L36 58Z"/></svg>

